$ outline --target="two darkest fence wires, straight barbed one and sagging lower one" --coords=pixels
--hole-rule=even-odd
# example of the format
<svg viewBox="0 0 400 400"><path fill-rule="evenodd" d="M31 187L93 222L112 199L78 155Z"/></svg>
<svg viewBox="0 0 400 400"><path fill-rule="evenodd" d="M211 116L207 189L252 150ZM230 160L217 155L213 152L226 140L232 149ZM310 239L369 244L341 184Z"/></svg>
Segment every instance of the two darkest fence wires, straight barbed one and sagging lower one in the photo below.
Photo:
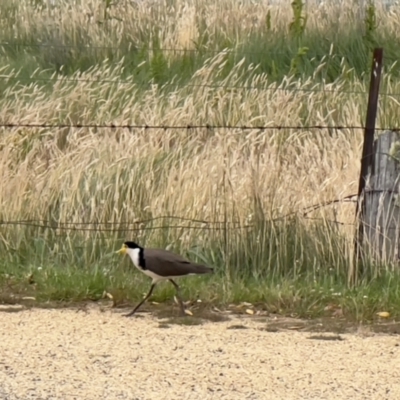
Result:
<svg viewBox="0 0 400 400"><path fill-rule="evenodd" d="M116 125L116 124L51 124L51 123L0 123L0 128L73 128L73 129L142 129L142 130L193 130L193 129L229 129L229 130L365 130L364 126L341 126L341 125L269 125L269 126L247 126L247 125ZM377 128L377 130L392 130L399 131L400 128ZM278 216L271 219L258 220L257 223L277 223L287 220L288 218L301 217L304 220L313 222L323 222L334 224L337 226L355 226L355 222L342 222L336 219L312 217L309 214L323 207L333 204L342 204L346 202L356 203L357 194L352 194L339 199L329 200L323 203L312 204L289 214ZM176 223L165 223L171 220ZM155 225L155 223L160 222ZM159 216L150 219L137 220L133 222L118 221L118 222L99 222L99 221L57 221L44 219L24 219L24 220L0 220L0 227L6 226L25 226L37 229L50 229L57 231L56 236L65 236L66 232L92 232L92 233L127 233L127 232L143 232L156 231L165 229L185 229L185 230L243 230L252 229L259 225L254 223L244 223L243 221L209 221L203 219L191 219L180 216Z"/></svg>

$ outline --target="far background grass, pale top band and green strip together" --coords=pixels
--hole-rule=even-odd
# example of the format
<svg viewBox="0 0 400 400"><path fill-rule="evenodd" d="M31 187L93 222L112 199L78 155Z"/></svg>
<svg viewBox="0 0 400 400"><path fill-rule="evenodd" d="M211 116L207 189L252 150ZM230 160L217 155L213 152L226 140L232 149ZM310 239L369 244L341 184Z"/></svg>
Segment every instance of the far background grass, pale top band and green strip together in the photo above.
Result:
<svg viewBox="0 0 400 400"><path fill-rule="evenodd" d="M358 2L306 3L299 35L292 23L304 21L294 17L289 0L119 0L110 6L101 0L9 0L0 5L0 66L29 78L37 69L45 76L71 74L123 57L124 76L147 85L171 79L187 83L206 58L223 49L246 52L248 66L260 65L276 81L312 76L323 63L316 78L333 82L343 60L362 79L376 45L385 47L389 64L398 60L398 6L388 9L377 2L366 21ZM221 76L240 58L232 53ZM399 76L398 65L394 72Z"/></svg>

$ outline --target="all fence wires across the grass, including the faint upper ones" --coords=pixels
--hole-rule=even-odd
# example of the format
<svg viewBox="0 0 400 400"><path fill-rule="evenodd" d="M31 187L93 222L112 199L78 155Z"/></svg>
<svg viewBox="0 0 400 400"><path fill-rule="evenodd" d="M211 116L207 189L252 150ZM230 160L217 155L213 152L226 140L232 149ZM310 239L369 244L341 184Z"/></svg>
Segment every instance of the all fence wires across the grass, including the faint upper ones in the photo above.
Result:
<svg viewBox="0 0 400 400"><path fill-rule="evenodd" d="M53 44L12 44L12 43L0 43L1 46L13 46L13 47L29 47L29 48L37 48L37 47L49 47L49 48L60 48L60 49L80 49L80 50L126 50L125 47L108 47L108 46L70 46L70 45L53 45ZM137 50L137 49L135 49ZM237 55L251 55L251 54L265 54L265 55L273 55L273 54L288 54L287 52L265 52L265 53L254 53L254 52L243 52L236 50L213 50L213 51L203 51L198 49L173 49L173 48L146 48L146 51L165 51L165 52L183 52L183 53L230 53ZM326 55L329 57L339 56L337 54ZM343 56L345 57L345 56ZM19 76L7 76L0 75L0 80L2 81L17 81L17 82L43 82L43 83L57 83L57 82L70 82L70 83L93 83L93 84L101 84L101 83L110 83L110 84L135 84L135 86L148 86L151 87L154 85L153 83L146 84L136 84L133 79L85 79L85 78L69 78L69 77L57 77L57 78L41 78L41 77L19 77ZM160 87L175 85L181 86L176 82L168 82ZM209 89L223 89L223 90L260 90L260 91L273 91L273 92L290 92L290 93L328 93L328 94L347 94L347 95L363 95L367 96L368 93L362 90L342 90L335 88L294 88L294 87L265 87L265 86L252 86L252 85L217 85L217 84L188 84L184 85L187 88L209 88ZM391 97L400 97L400 93L390 93L390 92L382 92L381 96L391 96ZM115 124L115 123L50 123L50 122L6 122L0 121L0 128L3 129L17 129L17 128L27 128L27 129L127 129L127 130L195 130L195 129L229 129L229 130L240 130L240 131L249 131L249 130L258 130L258 131L274 131L274 130L301 130L301 131L344 131L344 130L365 130L364 126L346 126L346 125L277 125L277 124L267 124L267 125L230 125L230 124L219 124L219 125L211 125L211 124L201 124L201 123L187 123L181 125L154 125L154 124ZM378 127L375 129L376 131L400 131L400 127ZM320 203L316 205L311 205L310 207L306 207L304 209L298 210L296 212L292 212L287 215L283 215L280 217L272 218L269 220L265 220L266 223L274 223L280 220L285 220L287 218L300 216L306 220L310 221L320 221L325 223L332 223L336 225L342 226L355 226L355 222L342 222L337 221L336 219L330 220L321 217L313 217L309 214L318 208L326 207L328 205L332 205L335 203L344 203L344 202L357 202L357 195L346 196L342 199L335 199L326 203ZM175 220L177 223L175 224L165 224L165 221ZM154 223L156 221L164 221L161 224ZM161 216L157 218L152 218L148 220L142 221L134 221L134 222L71 222L71 221L54 221L54 220L0 220L0 226L26 226L38 229L51 229L56 230L58 232L137 232L137 231L147 231L147 230L160 230L160 229L189 229L189 230L226 230L226 229L251 229L256 225L251 223L243 223L240 221L205 221L205 220L194 220L181 218L179 216Z"/></svg>

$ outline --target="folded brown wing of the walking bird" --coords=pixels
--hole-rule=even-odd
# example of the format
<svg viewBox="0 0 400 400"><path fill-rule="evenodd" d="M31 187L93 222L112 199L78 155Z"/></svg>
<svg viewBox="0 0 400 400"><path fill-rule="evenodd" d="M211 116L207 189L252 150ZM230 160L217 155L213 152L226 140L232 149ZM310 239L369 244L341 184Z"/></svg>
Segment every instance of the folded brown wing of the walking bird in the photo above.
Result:
<svg viewBox="0 0 400 400"><path fill-rule="evenodd" d="M145 249L146 268L161 276L205 274L212 269L163 249Z"/></svg>

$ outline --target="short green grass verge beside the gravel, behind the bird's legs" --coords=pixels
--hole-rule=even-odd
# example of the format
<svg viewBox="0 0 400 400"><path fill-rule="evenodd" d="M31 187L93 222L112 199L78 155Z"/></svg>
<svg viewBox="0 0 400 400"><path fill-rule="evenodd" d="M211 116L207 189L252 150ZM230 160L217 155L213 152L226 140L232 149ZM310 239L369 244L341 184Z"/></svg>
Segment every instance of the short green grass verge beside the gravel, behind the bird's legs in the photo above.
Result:
<svg viewBox="0 0 400 400"><path fill-rule="evenodd" d="M0 277L2 302L18 302L19 297L33 296L34 305L59 303L71 305L82 301L99 301L104 292L110 293L118 304L133 305L148 291L150 282L138 271L122 271L120 260L105 273L103 269L82 270L64 267L39 267L19 269L2 267ZM29 283L28 277L34 283ZM332 310L340 308L350 321L376 319L376 313L388 311L391 318L398 318L400 306L400 277L384 274L379 280L365 281L349 289L345 282L328 284L326 279L313 280L305 276L300 279L279 278L272 280L240 280L229 283L217 274L211 278L194 277L181 280L185 301L201 299L203 304L226 307L228 304L248 302L256 309L267 310L286 316L316 318L330 316ZM10 294L16 297L10 297ZM157 286L150 301L171 303L174 290L169 283ZM154 306L153 306L154 307ZM156 311L157 308L154 308Z"/></svg>

